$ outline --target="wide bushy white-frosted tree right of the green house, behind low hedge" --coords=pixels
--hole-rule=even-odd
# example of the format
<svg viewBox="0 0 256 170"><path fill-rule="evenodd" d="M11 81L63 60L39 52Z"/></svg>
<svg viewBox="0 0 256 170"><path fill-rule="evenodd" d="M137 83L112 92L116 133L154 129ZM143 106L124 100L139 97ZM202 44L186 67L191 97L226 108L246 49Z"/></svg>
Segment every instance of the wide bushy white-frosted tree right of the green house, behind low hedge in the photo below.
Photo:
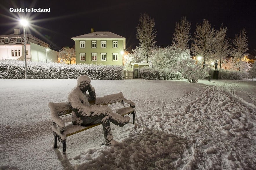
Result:
<svg viewBox="0 0 256 170"><path fill-rule="evenodd" d="M152 53L152 67L171 68L173 64L182 59L189 59L188 49L183 50L175 45L155 48Z"/></svg>

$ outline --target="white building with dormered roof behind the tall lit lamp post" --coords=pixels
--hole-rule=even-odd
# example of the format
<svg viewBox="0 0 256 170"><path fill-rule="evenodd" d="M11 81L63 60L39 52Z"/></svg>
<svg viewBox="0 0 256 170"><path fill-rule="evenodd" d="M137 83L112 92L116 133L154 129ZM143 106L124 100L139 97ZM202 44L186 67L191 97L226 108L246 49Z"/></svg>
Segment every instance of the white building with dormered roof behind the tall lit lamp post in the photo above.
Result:
<svg viewBox="0 0 256 170"><path fill-rule="evenodd" d="M26 58L27 61L58 62L59 52L49 49L49 44L26 34ZM13 34L0 36L0 59L24 60L24 35L20 29L14 29ZM46 60L47 56L47 60Z"/></svg>

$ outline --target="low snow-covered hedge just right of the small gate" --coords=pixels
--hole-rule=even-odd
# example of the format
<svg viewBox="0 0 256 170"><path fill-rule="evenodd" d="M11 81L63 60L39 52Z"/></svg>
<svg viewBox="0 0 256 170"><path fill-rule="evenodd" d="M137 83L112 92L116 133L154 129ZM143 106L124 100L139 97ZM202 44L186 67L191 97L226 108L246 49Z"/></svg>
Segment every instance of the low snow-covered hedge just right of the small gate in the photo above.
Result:
<svg viewBox="0 0 256 170"><path fill-rule="evenodd" d="M180 73L174 73L170 69L143 67L140 69L142 79L146 80L181 80Z"/></svg>

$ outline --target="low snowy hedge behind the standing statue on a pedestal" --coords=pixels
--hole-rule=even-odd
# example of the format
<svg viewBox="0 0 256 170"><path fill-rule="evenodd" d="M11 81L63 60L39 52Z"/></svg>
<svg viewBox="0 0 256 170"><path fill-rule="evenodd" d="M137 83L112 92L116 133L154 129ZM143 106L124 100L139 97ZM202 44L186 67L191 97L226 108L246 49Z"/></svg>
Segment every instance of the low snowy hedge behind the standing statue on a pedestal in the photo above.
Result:
<svg viewBox="0 0 256 170"><path fill-rule="evenodd" d="M213 69L209 71L209 74L213 78ZM248 74L246 72L234 71L234 70L219 70L219 79L230 80L242 80L246 79Z"/></svg>

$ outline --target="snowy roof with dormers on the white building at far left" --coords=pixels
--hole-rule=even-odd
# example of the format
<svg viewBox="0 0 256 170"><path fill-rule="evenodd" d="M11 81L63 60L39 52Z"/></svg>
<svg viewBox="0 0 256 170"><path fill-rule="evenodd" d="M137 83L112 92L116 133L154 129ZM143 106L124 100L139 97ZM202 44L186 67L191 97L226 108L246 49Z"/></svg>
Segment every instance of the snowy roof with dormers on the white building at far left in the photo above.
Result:
<svg viewBox="0 0 256 170"><path fill-rule="evenodd" d="M0 35L0 44L4 43L3 38L5 38L5 37L8 37L8 38L17 38L17 37L20 37L20 38L23 39L23 34L20 34L20 35L14 35L14 34ZM35 36L31 35L31 34L26 34L26 44L28 44L29 39L36 40L36 41L38 41L38 42L41 42L41 43L46 44L46 45L49 46L49 44L47 44L46 42L43 42L43 41L40 40L39 38L37 38L37 37L35 37ZM2 42L2 40L3 40L3 42ZM16 40L15 40L15 41L12 41L12 40L11 40L8 44L9 44L9 45L15 45L15 44L16 44ZM8 44L5 44L5 45L8 45ZM23 41L23 40L22 40L22 43L21 43L21 44L24 44L24 41Z"/></svg>

